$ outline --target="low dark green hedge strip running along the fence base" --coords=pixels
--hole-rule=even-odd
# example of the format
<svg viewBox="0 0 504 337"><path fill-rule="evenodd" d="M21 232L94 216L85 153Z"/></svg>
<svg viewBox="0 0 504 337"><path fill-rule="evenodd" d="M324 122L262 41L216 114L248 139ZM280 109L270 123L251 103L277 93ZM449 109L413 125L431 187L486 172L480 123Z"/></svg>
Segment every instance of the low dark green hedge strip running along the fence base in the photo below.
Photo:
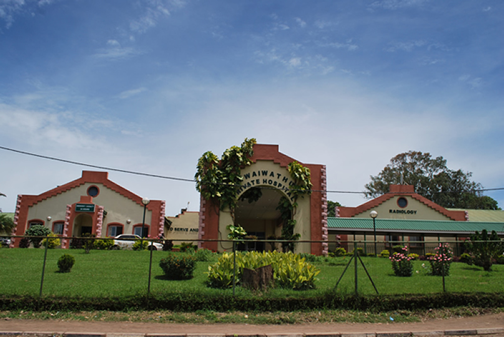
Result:
<svg viewBox="0 0 504 337"><path fill-rule="evenodd" d="M129 297L67 297L0 295L0 310L74 311L74 310L197 310L227 311L298 311L298 310L428 310L452 307L501 308L502 293L440 293L427 295L341 295L332 292L303 298L241 297L228 294L201 297L198 294L162 296L134 295Z"/></svg>

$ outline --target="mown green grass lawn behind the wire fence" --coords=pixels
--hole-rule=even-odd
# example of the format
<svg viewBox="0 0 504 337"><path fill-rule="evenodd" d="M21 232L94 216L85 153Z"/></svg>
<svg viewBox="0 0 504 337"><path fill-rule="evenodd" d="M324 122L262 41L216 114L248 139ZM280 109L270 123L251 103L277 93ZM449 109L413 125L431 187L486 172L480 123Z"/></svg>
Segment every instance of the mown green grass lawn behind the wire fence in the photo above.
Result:
<svg viewBox="0 0 504 337"><path fill-rule="evenodd" d="M76 263L70 273L58 273L57 260L62 254L71 254ZM166 280L159 267L159 260L166 256L164 251L153 252L151 292L156 295L179 293L212 295L232 289L212 289L205 285L208 265L213 262L198 262L194 278L185 281ZM38 295L44 249L1 248L0 249L0 294ZM132 250L84 250L49 249L43 284L43 295L109 297L147 293L149 275L149 251ZM263 296L304 297L333 289L350 257L327 258L316 263L321 269L316 282L317 289L293 291L274 288ZM415 261L412 277L394 276L388 259L362 258L377 290L383 295L431 294L443 291L442 277L428 276L427 261ZM424 265L424 267L422 266ZM338 292L354 293L354 263L350 264ZM374 294L371 282L360 263L358 271L359 294ZM504 266L494 265L491 272L482 268L453 263L450 276L445 278L448 292L502 292L504 291ZM250 291L236 288L236 295L253 295ZM257 294L255 294L257 295Z"/></svg>

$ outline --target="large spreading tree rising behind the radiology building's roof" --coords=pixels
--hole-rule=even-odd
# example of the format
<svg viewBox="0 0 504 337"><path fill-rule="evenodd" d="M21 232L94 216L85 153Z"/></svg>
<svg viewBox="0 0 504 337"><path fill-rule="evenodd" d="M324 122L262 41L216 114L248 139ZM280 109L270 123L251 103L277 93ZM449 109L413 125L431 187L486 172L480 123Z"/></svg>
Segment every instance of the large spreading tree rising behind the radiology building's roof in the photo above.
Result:
<svg viewBox="0 0 504 337"><path fill-rule="evenodd" d="M453 171L442 156L433 158L430 153L408 151L400 153L377 176L370 176L365 185L366 198L375 198L389 192L392 184L408 184L415 192L448 208L500 209L497 201L483 196L480 183L471 180L472 173Z"/></svg>

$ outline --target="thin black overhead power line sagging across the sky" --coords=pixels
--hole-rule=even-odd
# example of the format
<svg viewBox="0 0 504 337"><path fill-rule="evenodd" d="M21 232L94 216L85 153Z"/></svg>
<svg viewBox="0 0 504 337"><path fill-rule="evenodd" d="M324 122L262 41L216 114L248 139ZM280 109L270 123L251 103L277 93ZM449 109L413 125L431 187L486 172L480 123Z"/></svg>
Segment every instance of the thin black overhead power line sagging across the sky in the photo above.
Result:
<svg viewBox="0 0 504 337"><path fill-rule="evenodd" d="M68 159L61 159L61 158L51 157L51 156L37 154L37 153L32 153L32 152L16 150L16 149L5 147L5 146L0 146L0 149L4 149L6 151L11 151L11 152L16 152L16 153L21 153L21 154L26 154L26 155L30 155L30 156L38 157L38 158L55 160L55 161L60 161L60 162L65 162L65 163L70 163L70 164L75 164L75 165L81 165L81 166L86 166L86 167L99 168L100 170L107 170L107 171L128 173L128 174L132 174L132 175L151 177L151 178L160 178L160 179L168 179L168 180L175 180L175 181L181 181L181 182L196 183L195 179L168 177L168 176L155 175L155 174L144 173L144 172L122 170L121 168L113 168L113 167L107 167L107 166L87 164L87 163L83 163L83 162L79 162L79 161L73 161L73 160L68 160ZM223 184L223 185L228 185L228 184ZM241 187L241 185L234 185L234 186ZM274 189L274 190L277 189L277 188L268 187L268 186L258 186L257 188L260 188L260 189ZM289 189L289 188L285 188L284 190L286 190L286 191L296 191L295 189ZM504 187L491 188L491 189L479 189L479 190L474 190L474 191L475 192L484 192L484 191L501 191L501 190L504 190ZM305 190L302 190L302 191L305 191ZM365 194L365 192L362 192L362 191L310 190L310 192L339 193L339 194ZM464 192L464 191L443 191L443 192L444 193L459 193L459 192ZM443 193L443 192L437 192L437 193Z"/></svg>

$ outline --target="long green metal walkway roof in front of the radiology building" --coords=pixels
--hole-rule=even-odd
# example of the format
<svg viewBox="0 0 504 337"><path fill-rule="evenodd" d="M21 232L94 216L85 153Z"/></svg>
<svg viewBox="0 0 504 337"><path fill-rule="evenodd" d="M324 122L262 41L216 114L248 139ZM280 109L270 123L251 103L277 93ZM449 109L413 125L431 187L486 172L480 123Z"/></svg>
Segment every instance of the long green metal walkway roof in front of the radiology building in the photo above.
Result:
<svg viewBox="0 0 504 337"><path fill-rule="evenodd" d="M375 225L376 232L380 233L472 234L486 229L504 235L504 222L375 219ZM327 226L329 231L373 231L373 221L370 218L330 217Z"/></svg>

